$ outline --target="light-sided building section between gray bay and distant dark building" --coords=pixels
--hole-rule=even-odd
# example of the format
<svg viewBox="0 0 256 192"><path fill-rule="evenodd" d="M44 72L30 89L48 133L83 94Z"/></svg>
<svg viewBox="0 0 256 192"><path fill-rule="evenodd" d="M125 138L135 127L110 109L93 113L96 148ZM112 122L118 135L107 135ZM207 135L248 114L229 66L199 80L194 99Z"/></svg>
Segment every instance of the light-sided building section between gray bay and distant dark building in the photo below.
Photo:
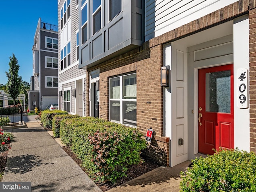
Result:
<svg viewBox="0 0 256 192"><path fill-rule="evenodd" d="M86 116L86 70L78 68L78 1L58 1L59 108Z"/></svg>

